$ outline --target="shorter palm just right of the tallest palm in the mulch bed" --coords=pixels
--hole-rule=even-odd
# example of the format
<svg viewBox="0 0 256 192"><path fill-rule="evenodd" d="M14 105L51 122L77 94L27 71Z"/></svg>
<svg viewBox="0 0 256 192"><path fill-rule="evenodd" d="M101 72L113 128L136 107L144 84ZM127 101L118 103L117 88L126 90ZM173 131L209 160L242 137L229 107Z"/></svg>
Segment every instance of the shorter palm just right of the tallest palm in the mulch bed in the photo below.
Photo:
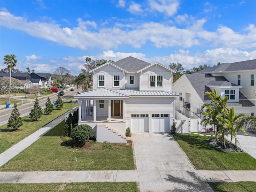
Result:
<svg viewBox="0 0 256 192"><path fill-rule="evenodd" d="M240 114L236 115L234 107L229 109L228 113L226 114L226 122L224 123L224 126L228 127L228 130L231 134L230 145L232 142L232 138L235 139L235 144L238 143L236 135L239 130L242 130L242 132L244 132L244 134L246 134L246 132L244 131L244 128L241 124L242 117L244 117L244 116L246 116L244 113L240 113Z"/></svg>

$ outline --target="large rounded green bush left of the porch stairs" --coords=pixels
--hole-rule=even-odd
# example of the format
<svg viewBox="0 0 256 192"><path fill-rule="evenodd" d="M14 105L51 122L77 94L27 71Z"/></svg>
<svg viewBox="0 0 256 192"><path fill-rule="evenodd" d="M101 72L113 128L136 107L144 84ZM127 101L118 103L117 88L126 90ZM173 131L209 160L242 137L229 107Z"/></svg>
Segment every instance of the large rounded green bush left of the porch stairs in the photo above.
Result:
<svg viewBox="0 0 256 192"><path fill-rule="evenodd" d="M83 146L86 140L92 138L95 132L89 125L78 125L71 130L70 136L76 141L78 147Z"/></svg>

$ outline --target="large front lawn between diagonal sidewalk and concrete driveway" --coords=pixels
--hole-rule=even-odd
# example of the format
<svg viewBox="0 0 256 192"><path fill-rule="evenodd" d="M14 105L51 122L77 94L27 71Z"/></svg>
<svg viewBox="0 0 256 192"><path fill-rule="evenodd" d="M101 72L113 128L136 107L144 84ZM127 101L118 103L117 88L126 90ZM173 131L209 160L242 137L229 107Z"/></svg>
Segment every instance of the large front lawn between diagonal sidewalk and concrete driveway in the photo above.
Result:
<svg viewBox="0 0 256 192"><path fill-rule="evenodd" d="M134 170L131 146L103 148L93 143L90 148L65 146L64 121L4 164L0 171L62 170ZM76 159L77 158L77 161Z"/></svg>

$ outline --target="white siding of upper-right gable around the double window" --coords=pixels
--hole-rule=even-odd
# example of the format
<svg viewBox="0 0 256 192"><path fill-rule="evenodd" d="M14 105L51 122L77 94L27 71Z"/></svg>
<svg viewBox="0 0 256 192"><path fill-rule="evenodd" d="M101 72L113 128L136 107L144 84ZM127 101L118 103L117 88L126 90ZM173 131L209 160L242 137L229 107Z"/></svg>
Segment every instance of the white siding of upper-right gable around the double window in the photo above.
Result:
<svg viewBox="0 0 256 192"><path fill-rule="evenodd" d="M163 87L149 87L150 75L162 75ZM172 74L167 72L162 66L152 66L142 71L140 75L140 90L166 90L172 92Z"/></svg>

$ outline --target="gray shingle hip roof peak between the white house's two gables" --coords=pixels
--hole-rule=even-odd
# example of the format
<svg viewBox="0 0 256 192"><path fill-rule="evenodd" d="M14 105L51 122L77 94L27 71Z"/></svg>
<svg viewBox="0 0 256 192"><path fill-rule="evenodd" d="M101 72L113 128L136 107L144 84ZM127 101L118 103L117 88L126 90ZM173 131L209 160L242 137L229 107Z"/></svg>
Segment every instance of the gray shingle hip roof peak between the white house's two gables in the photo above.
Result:
<svg viewBox="0 0 256 192"><path fill-rule="evenodd" d="M131 56L121 59L119 61L116 61L116 62L114 62L114 64L126 71L129 71L129 72L136 72L140 69L143 69L143 68L151 65L148 62L136 59Z"/></svg>

